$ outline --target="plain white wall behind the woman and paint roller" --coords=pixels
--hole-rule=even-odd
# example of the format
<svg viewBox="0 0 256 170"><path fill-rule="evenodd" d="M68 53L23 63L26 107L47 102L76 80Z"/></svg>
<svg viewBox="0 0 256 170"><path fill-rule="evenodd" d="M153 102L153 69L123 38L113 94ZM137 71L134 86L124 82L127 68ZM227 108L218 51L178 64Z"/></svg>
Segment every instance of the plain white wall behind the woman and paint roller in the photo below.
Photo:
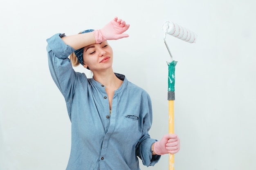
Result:
<svg viewBox="0 0 256 170"><path fill-rule="evenodd" d="M254 0L2 0L0 2L0 170L64 170L70 121L48 69L46 39L101 29L118 16L129 38L109 41L114 71L153 102L151 137L168 132L169 54L162 24L198 34L171 35L176 65L175 170L256 169L256 2ZM81 69L81 68L76 68ZM168 168L168 155L154 167Z"/></svg>

